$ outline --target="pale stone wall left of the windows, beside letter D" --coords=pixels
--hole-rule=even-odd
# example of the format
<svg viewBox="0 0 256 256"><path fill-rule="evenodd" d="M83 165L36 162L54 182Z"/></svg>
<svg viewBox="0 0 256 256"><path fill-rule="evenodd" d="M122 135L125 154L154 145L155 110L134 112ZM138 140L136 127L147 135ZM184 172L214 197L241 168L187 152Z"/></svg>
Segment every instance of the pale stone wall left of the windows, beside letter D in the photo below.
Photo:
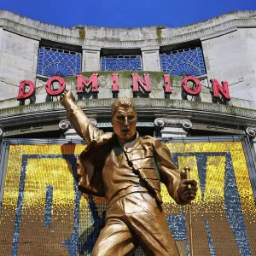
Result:
<svg viewBox="0 0 256 256"><path fill-rule="evenodd" d="M21 80L35 82L38 40L0 30L0 100L16 98ZM9 106L13 107L13 106Z"/></svg>

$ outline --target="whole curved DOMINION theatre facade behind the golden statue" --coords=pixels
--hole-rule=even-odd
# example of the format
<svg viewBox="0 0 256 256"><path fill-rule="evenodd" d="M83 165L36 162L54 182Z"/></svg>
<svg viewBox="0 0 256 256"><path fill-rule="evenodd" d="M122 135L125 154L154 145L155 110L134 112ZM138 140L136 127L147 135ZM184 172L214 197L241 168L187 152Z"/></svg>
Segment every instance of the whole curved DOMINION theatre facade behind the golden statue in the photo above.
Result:
<svg viewBox="0 0 256 256"><path fill-rule="evenodd" d="M84 199L73 178L86 145L61 106L65 88L106 132L114 99L133 98L140 135L191 166L195 255L256 254L255 60L256 11L174 28L61 27L0 11L0 254L90 255L104 223L105 202ZM162 195L190 255L189 210Z"/></svg>

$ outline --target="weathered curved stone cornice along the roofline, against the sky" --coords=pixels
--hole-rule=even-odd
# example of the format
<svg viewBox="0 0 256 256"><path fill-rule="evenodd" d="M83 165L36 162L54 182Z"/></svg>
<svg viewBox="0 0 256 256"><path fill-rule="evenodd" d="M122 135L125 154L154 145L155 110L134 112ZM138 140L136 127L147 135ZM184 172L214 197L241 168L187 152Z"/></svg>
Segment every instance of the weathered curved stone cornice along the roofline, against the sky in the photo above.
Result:
<svg viewBox="0 0 256 256"><path fill-rule="evenodd" d="M195 39L207 39L235 31L239 27L256 27L256 11L237 11L188 26L165 27L161 39L157 27L109 28L80 26L68 28L49 25L9 11L0 11L0 27L29 38L44 38L63 44L99 48L144 48L183 43ZM79 37L79 29L85 29L85 38ZM101 35L101 36L98 36ZM115 36L116 35L116 36ZM133 35L137 35L134 37ZM146 35L146 36L145 36ZM137 38L131 41L130 38Z"/></svg>

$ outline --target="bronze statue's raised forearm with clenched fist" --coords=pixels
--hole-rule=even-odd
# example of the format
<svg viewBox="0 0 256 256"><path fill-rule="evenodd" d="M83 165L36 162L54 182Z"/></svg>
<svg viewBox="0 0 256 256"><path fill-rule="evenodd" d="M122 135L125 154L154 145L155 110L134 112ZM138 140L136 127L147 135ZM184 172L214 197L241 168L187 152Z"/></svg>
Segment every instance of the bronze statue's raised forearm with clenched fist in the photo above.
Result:
<svg viewBox="0 0 256 256"><path fill-rule="evenodd" d="M61 105L67 110L67 119L70 121L74 130L83 137L86 143L90 143L96 137L103 134L103 131L97 129L83 110L76 104L73 93L65 90L61 95Z"/></svg>

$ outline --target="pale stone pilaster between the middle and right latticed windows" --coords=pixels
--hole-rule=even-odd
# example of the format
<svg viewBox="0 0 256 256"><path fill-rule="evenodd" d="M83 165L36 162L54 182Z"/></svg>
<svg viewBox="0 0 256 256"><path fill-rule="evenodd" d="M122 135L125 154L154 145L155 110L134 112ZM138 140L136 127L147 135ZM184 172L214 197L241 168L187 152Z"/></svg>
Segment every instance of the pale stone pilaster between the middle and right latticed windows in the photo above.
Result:
<svg viewBox="0 0 256 256"><path fill-rule="evenodd" d="M143 47L143 71L161 71L159 46Z"/></svg>

